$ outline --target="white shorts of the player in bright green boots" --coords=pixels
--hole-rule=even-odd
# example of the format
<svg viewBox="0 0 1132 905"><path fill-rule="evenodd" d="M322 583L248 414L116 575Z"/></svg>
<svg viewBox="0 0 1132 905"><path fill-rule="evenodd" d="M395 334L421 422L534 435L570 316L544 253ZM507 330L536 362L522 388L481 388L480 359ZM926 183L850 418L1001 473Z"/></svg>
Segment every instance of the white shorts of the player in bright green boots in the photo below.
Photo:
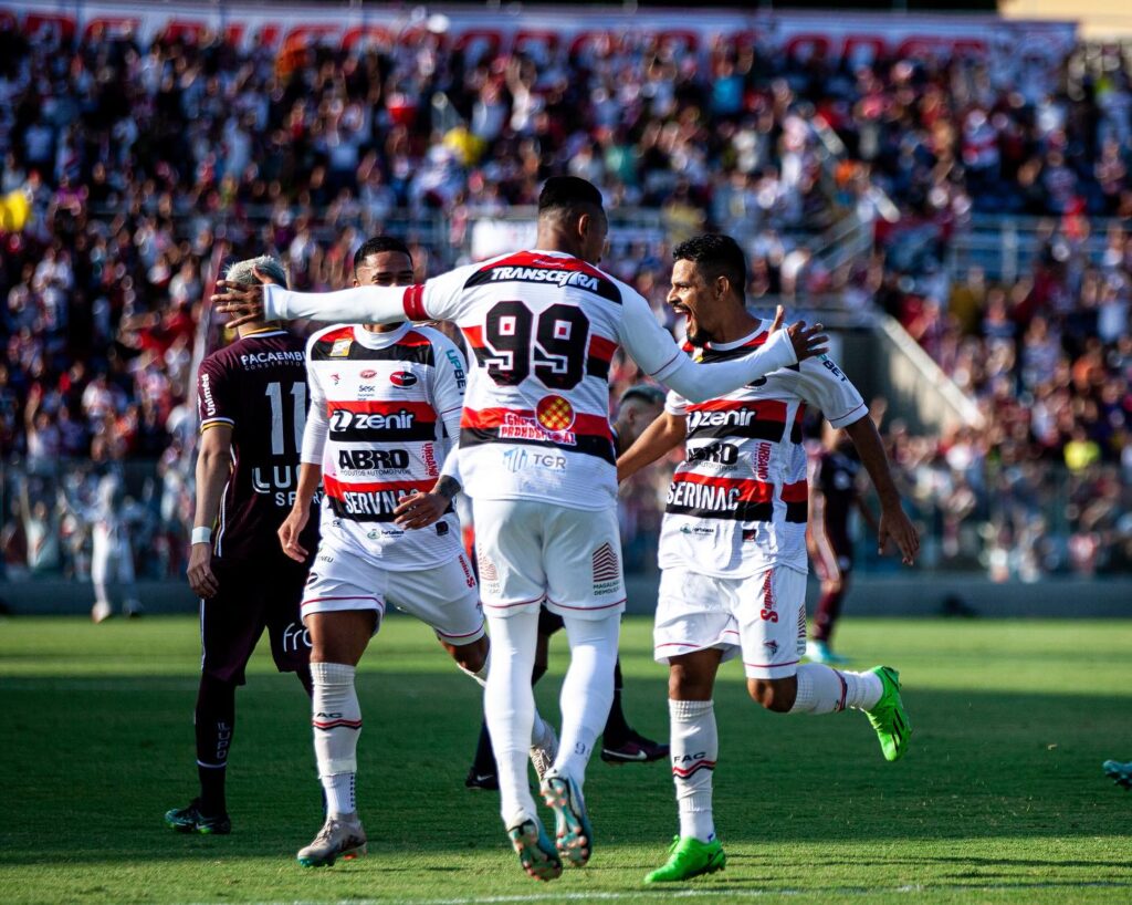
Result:
<svg viewBox="0 0 1132 905"><path fill-rule="evenodd" d="M660 577L653 656L659 663L719 648L729 660L740 651L748 678L786 678L806 652L806 577L775 566L724 579L684 566Z"/></svg>

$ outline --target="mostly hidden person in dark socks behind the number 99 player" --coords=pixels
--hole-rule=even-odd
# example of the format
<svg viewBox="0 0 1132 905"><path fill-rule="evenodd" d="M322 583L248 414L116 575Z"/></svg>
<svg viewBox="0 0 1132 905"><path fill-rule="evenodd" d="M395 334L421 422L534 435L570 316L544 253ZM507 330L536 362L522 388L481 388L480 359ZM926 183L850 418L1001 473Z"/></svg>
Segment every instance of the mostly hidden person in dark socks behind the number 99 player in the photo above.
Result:
<svg viewBox="0 0 1132 905"><path fill-rule="evenodd" d="M637 384L626 390L618 401L617 420L612 426L615 449L621 451L632 446L641 433L660 417L663 407L664 391L659 386ZM551 613L543 604L539 612L539 641L534 655L534 672L531 674L532 686L546 675L550 638L561 630L563 624L563 617ZM628 724L621 706L623 688L621 660L618 657L614 665L614 700L606 727L601 732L601 759L607 763L648 763L667 758L667 744L646 738ZM480 729L475 759L464 785L469 788L499 788L487 723Z"/></svg>

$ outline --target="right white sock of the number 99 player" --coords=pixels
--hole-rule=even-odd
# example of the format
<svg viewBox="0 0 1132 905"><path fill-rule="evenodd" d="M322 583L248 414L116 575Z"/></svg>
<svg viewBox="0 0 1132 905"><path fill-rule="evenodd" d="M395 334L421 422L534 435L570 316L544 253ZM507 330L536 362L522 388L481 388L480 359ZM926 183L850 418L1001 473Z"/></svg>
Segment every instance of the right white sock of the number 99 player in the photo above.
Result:
<svg viewBox="0 0 1132 905"><path fill-rule="evenodd" d="M569 639L569 668L559 698L561 742L551 769L582 786L593 744L604 729L614 703L614 667L621 616L620 613L601 618L566 616L564 622Z"/></svg>

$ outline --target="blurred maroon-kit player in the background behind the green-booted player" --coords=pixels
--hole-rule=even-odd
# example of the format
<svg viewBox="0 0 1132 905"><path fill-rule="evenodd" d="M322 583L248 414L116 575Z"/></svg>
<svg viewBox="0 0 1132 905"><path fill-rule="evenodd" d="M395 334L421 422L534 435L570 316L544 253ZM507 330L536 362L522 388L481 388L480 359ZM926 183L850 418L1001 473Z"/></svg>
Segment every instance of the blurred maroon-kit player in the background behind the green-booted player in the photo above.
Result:
<svg viewBox="0 0 1132 905"><path fill-rule="evenodd" d="M806 536L809 556L822 582L806 656L814 663L838 665L846 658L833 652L831 639L852 572L852 538L849 515L856 509L875 532L876 515L860 494L860 458L843 430L826 424L822 449L811 469L809 530Z"/></svg>

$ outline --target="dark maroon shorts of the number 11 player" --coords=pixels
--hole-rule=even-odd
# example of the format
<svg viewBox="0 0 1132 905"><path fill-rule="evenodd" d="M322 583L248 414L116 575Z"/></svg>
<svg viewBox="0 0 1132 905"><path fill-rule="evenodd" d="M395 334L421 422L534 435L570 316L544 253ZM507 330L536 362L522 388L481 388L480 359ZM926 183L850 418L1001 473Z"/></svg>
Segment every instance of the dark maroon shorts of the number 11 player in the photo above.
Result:
<svg viewBox="0 0 1132 905"><path fill-rule="evenodd" d="M299 604L307 567L290 560L214 563L220 591L200 601L200 669L224 682L245 683L243 668L267 630L281 673L310 663L310 635Z"/></svg>

